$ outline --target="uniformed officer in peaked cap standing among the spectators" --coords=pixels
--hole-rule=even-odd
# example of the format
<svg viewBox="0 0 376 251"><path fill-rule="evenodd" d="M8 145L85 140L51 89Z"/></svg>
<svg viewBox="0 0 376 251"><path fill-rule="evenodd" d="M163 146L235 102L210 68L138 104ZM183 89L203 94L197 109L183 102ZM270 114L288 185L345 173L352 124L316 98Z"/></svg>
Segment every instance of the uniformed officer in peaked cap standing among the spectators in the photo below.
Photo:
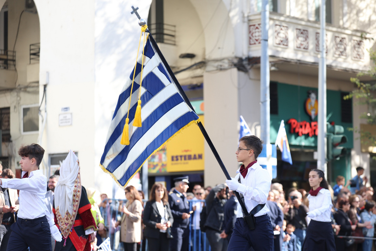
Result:
<svg viewBox="0 0 376 251"><path fill-rule="evenodd" d="M173 239L170 242L171 251L187 251L189 245L189 203L183 193L188 189L188 176L174 178L175 187L168 194L168 203L174 218L171 227Z"/></svg>

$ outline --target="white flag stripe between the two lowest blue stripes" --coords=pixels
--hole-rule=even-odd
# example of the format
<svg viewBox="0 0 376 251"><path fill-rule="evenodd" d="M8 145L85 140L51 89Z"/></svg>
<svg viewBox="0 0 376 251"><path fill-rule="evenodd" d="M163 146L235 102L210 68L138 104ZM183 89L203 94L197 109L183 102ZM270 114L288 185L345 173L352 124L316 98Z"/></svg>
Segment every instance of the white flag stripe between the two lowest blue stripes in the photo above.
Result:
<svg viewBox="0 0 376 251"><path fill-rule="evenodd" d="M189 110L187 109L186 104L180 103L179 105L172 108L166 114L164 114L144 135L141 137L135 146L129 151L127 159L116 169L114 170L113 174L119 180L130 164L138 158L141 152L146 149L147 146L156 138L158 137L161 132L166 129L168 126L171 125L177 118L181 117L183 114L187 113ZM159 146L155 146L155 149Z"/></svg>

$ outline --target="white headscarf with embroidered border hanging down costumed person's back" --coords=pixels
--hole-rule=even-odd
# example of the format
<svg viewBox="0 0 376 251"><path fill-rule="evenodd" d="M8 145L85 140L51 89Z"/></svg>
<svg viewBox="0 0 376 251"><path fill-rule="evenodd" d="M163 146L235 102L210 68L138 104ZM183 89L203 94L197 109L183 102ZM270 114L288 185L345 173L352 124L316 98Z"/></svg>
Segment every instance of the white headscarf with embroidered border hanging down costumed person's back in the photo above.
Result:
<svg viewBox="0 0 376 251"><path fill-rule="evenodd" d="M70 150L60 167L60 177L55 187L56 218L65 237L76 218L80 194L80 164L77 156Z"/></svg>

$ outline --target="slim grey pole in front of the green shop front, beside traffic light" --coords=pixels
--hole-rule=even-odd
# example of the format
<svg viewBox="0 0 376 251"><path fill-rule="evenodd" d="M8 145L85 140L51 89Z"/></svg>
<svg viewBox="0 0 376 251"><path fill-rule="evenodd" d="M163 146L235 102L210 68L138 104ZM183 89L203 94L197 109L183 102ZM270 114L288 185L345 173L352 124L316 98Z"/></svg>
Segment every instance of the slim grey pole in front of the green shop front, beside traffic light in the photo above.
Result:
<svg viewBox="0 0 376 251"><path fill-rule="evenodd" d="M318 62L318 135L317 135L317 169L327 176L326 168L326 48L325 48L325 0L320 6L320 59Z"/></svg>

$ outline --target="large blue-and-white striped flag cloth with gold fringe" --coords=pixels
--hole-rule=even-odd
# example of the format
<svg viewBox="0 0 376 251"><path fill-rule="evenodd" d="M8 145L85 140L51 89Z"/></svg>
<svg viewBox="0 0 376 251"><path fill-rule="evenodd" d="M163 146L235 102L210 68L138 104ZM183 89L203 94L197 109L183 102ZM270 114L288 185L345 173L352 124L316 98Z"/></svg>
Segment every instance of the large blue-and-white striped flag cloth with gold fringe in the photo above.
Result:
<svg viewBox="0 0 376 251"><path fill-rule="evenodd" d="M100 164L102 169L125 187L144 162L181 129L199 121L196 113L184 102L173 78L168 74L150 38L144 48L143 81L141 85L142 127L133 127L140 90L142 51L138 56L129 111L128 146L121 145L127 117L133 71L120 93L106 138ZM177 83L178 84L178 83Z"/></svg>

